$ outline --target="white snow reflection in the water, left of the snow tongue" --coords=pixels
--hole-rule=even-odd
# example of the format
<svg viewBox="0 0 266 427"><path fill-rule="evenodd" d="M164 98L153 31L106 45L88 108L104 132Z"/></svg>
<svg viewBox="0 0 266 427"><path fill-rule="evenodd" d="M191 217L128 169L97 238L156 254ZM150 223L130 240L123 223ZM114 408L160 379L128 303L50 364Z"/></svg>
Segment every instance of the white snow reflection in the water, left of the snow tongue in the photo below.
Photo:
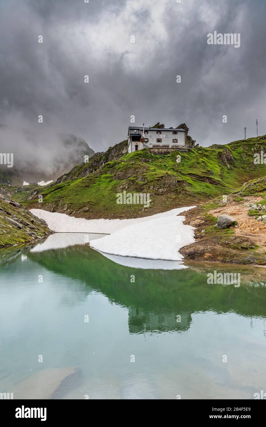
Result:
<svg viewBox="0 0 266 427"><path fill-rule="evenodd" d="M85 245L90 240L99 239L102 234L96 233L56 233L47 237L44 242L38 243L30 252L42 252L49 249L61 249L74 245Z"/></svg>

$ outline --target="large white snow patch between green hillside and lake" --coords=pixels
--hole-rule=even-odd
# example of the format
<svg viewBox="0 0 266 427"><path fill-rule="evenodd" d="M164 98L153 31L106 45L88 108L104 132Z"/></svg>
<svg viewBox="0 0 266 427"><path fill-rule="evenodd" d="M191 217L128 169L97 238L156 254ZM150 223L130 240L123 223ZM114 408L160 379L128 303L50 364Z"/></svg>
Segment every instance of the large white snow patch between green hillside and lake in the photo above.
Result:
<svg viewBox="0 0 266 427"><path fill-rule="evenodd" d="M134 219L84 219L42 209L31 212L53 231L111 234L90 242L93 249L105 254L181 261L178 250L195 241L194 227L184 225L185 217L177 215L191 208L194 206Z"/></svg>

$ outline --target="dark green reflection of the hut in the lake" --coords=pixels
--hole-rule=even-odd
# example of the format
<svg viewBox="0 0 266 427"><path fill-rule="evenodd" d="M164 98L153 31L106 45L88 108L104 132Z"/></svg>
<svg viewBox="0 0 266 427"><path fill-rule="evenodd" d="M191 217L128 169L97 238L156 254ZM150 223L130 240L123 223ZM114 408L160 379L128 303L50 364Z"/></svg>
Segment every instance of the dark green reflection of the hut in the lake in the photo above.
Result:
<svg viewBox="0 0 266 427"><path fill-rule="evenodd" d="M180 322L177 322L180 316ZM179 320L179 319L178 319ZM167 332L189 329L191 316L187 313L153 313L129 307L129 332Z"/></svg>

